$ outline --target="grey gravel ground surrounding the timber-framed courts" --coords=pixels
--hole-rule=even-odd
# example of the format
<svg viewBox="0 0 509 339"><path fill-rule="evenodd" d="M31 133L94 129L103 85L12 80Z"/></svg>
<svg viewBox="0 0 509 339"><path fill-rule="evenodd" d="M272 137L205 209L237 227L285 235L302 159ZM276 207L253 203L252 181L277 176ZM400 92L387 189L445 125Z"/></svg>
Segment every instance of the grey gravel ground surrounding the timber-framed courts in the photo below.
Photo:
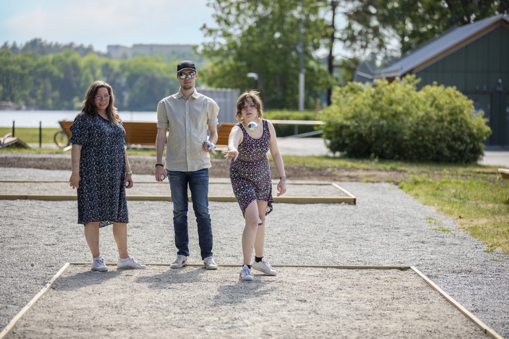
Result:
<svg viewBox="0 0 509 339"><path fill-rule="evenodd" d="M0 168L4 180L62 180L69 175L69 171ZM152 176L134 180L148 181ZM357 205L274 205L267 217L265 248L272 264L415 266L488 327L509 337L507 256L484 252L486 246L457 229L453 220L391 184L338 184L357 197ZM91 258L82 231L77 231L82 226L75 224L75 201L4 200L0 204L0 264L9 267L0 270L3 328L65 262L90 262ZM172 262L176 250L171 203L133 201L129 209L130 253L146 263ZM243 219L238 204L212 202L210 212L216 262L240 264ZM191 214L189 260L200 264ZM101 252L106 261L116 261L110 227L101 231ZM225 281L237 283L234 273Z"/></svg>

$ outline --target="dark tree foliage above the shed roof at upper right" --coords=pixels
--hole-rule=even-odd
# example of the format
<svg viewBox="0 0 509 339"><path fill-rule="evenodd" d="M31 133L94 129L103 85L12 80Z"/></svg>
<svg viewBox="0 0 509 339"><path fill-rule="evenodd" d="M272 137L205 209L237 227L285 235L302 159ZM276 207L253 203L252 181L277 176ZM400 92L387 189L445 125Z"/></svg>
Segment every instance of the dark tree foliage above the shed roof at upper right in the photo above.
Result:
<svg viewBox="0 0 509 339"><path fill-rule="evenodd" d="M334 2L334 0L328 0ZM509 13L509 0L344 0L347 49L386 52L394 35L403 54L446 30Z"/></svg>

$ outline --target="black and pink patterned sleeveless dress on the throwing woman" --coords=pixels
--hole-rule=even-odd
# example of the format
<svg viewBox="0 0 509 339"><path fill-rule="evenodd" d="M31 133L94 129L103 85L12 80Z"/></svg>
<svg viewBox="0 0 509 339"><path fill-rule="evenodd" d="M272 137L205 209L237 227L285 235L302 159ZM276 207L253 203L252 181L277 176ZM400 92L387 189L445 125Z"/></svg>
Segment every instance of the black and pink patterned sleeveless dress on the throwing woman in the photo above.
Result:
<svg viewBox="0 0 509 339"><path fill-rule="evenodd" d="M263 134L254 139L247 134L242 124L242 142L239 144L237 160L230 162L230 180L233 193L239 202L242 215L247 206L255 201L267 201L265 215L272 211L272 181L267 152L269 151L270 131L266 119L263 121Z"/></svg>

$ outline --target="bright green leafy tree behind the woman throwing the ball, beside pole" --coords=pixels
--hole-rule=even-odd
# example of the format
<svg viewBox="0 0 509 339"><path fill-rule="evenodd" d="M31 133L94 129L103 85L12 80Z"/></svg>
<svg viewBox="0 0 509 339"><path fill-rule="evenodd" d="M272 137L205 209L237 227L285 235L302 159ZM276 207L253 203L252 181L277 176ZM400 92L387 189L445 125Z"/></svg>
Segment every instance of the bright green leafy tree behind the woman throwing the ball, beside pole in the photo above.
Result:
<svg viewBox="0 0 509 339"><path fill-rule="evenodd" d="M327 28L319 3L209 0L208 6L214 9L217 24L202 27L213 38L202 46L212 64L208 84L241 91L256 87L267 107L296 108L302 51L305 105L317 105L322 88L331 83L327 70L313 56L322 47ZM258 79L248 78L247 73L258 74Z"/></svg>

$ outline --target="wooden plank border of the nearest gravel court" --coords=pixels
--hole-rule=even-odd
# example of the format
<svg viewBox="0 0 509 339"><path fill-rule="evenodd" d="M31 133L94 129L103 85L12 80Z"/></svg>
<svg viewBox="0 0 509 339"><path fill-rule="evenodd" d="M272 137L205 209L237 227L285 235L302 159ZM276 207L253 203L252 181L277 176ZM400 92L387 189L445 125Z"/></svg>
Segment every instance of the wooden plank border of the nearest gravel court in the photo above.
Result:
<svg viewBox="0 0 509 339"><path fill-rule="evenodd" d="M16 326L16 323L28 312L32 306L34 306L39 298L53 285L53 283L60 278L60 276L65 272L65 270L70 265L90 265L90 263L66 263L64 266L56 272L53 278L49 281L49 283L36 294L32 300L29 301L22 309L18 312L16 316L9 322L9 324L0 332L0 339L3 339L13 328ZM106 263L108 266L116 266L115 263ZM145 264L147 266L169 266L169 264ZM202 264L188 264L187 266L191 267L203 267ZM241 265L217 265L219 267L240 267ZM485 334L494 339L503 339L497 332L486 326L482 321L480 321L477 317L475 317L472 313L470 313L465 307L463 307L458 301L456 301L453 297L449 296L445 293L440 287L438 287L435 283L433 283L426 275L421 273L414 266L336 266L336 265L272 265L273 267L303 267L303 268L335 268L335 269L398 269L398 270L412 270L417 275L422 278L433 290L438 292L447 302L456 307L461 314L463 314L468 320L473 322L477 327L482 329Z"/></svg>

